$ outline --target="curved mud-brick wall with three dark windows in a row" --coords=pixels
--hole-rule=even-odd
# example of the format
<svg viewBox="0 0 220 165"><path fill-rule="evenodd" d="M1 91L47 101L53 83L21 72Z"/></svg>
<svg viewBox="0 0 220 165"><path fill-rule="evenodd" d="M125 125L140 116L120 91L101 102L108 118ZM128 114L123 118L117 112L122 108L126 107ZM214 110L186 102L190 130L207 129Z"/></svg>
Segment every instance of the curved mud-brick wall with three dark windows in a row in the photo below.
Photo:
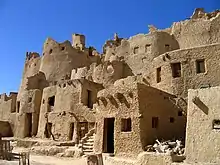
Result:
<svg viewBox="0 0 220 165"><path fill-rule="evenodd" d="M220 72L219 54L219 44L162 54L153 60L147 80L155 88L185 98L188 89L220 85L220 77L216 76L216 73ZM197 73L197 60L204 60L204 73ZM181 65L181 76L174 78L171 64L178 62ZM161 67L161 81L157 82L157 68L159 67Z"/></svg>

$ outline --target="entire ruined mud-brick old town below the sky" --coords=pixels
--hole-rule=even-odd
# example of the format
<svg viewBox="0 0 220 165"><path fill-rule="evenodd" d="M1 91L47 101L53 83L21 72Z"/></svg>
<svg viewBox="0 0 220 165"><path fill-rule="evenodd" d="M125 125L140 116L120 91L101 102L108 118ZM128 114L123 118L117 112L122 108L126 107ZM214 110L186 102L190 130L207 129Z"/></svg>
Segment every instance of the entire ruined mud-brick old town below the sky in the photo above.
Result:
<svg viewBox="0 0 220 165"><path fill-rule="evenodd" d="M19 91L0 95L2 139L88 164L220 164L219 10L115 33L102 53L85 40L47 38L42 54L26 53Z"/></svg>

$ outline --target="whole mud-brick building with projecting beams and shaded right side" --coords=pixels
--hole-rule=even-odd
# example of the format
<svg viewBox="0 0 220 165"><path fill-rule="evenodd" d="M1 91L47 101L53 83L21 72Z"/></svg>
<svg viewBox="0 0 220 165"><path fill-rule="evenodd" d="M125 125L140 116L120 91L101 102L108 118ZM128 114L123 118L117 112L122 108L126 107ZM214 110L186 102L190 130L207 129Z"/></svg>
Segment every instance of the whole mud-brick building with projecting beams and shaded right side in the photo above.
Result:
<svg viewBox="0 0 220 165"><path fill-rule="evenodd" d="M186 116L176 97L139 80L121 79L98 93L96 152L137 156L156 139L184 138Z"/></svg>

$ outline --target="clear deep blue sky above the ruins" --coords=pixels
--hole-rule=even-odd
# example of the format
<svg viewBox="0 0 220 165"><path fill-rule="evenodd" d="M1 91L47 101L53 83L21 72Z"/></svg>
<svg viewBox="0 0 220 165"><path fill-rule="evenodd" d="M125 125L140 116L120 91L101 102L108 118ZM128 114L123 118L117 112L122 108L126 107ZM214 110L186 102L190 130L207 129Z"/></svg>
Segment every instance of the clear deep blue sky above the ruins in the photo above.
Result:
<svg viewBox="0 0 220 165"><path fill-rule="evenodd" d="M41 54L47 37L61 42L83 33L101 50L105 40L169 27L195 8L220 9L220 0L0 0L0 93L18 91L26 51Z"/></svg>

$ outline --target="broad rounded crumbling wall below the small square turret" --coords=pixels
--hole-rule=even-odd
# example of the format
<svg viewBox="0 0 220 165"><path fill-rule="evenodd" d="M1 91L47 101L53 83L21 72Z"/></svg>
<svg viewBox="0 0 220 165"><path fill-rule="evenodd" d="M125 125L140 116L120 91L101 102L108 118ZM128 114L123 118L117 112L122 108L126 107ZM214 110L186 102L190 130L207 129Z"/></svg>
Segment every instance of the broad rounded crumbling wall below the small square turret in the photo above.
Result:
<svg viewBox="0 0 220 165"><path fill-rule="evenodd" d="M73 48L69 41L58 43L48 38L44 43L40 71L48 82L59 81L73 69L89 66L98 59L99 56L89 56L87 52Z"/></svg>

